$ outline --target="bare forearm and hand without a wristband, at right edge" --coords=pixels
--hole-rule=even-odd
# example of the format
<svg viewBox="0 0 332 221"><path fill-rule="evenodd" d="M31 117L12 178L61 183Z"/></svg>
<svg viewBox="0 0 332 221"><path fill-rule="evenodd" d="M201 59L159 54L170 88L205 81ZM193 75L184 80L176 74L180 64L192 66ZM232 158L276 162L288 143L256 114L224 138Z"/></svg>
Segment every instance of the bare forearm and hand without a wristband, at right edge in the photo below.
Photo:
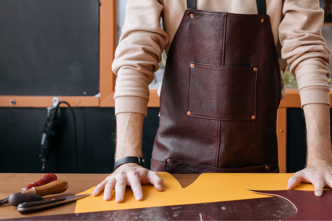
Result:
<svg viewBox="0 0 332 221"><path fill-rule="evenodd" d="M287 189L297 183L312 183L315 195L321 196L324 187L332 188L332 152L330 135L330 107L327 104L303 106L307 132L307 165L288 180Z"/></svg>

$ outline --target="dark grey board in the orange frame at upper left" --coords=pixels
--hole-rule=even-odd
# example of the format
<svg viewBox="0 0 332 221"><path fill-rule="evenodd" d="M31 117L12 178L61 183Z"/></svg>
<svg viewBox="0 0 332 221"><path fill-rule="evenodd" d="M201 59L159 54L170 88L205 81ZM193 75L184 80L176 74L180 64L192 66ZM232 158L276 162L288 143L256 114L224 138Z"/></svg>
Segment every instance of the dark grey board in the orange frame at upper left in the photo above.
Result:
<svg viewBox="0 0 332 221"><path fill-rule="evenodd" d="M98 94L99 0L1 0L0 79L0 95Z"/></svg>

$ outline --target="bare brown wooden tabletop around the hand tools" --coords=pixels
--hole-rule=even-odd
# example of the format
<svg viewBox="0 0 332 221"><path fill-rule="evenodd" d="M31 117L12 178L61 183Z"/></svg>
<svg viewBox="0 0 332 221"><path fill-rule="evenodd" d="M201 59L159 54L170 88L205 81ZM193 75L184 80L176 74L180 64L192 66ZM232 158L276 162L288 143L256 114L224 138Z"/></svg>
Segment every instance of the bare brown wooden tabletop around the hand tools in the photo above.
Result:
<svg viewBox="0 0 332 221"><path fill-rule="evenodd" d="M36 182L45 173L0 173L0 199L6 198L13 193L21 191L31 182ZM102 182L109 174L86 174L86 173L56 173L58 179L68 182L68 189L60 194L44 196L45 199L53 197L73 196L83 192ZM187 187L193 183L199 174L173 174L179 181L181 186ZM17 211L17 207L5 204L0 206L0 219L21 218L29 216L45 216L56 214L74 213L76 201L68 202L63 206L47 209L30 214L21 214Z"/></svg>

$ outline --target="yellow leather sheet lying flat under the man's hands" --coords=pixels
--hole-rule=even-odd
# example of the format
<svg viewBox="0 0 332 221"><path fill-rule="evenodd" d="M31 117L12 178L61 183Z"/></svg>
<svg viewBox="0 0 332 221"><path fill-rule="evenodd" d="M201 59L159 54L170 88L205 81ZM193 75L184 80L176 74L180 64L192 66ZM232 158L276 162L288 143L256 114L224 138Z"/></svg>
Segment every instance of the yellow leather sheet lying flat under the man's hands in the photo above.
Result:
<svg viewBox="0 0 332 221"><path fill-rule="evenodd" d="M171 174L158 174L164 180L162 192L158 192L153 185L143 185L143 200L136 201L130 186L127 186L123 203L115 202L115 191L110 201L104 201L104 192L101 192L99 196L90 195L77 200L75 213L271 197L247 189L284 190L294 173L202 173L186 188L182 188ZM76 195L89 194L94 189L92 187ZM294 189L314 190L314 186L300 183Z"/></svg>

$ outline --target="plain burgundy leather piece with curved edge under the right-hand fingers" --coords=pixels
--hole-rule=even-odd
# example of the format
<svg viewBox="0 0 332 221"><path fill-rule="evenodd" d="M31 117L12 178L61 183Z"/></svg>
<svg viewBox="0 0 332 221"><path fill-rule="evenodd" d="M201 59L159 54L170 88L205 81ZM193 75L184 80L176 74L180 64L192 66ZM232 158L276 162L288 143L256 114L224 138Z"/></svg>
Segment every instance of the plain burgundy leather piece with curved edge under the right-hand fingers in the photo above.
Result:
<svg viewBox="0 0 332 221"><path fill-rule="evenodd" d="M281 196L294 204L297 213L282 220L332 220L332 189L323 190L321 197L315 196L314 191L295 189L250 191Z"/></svg>

